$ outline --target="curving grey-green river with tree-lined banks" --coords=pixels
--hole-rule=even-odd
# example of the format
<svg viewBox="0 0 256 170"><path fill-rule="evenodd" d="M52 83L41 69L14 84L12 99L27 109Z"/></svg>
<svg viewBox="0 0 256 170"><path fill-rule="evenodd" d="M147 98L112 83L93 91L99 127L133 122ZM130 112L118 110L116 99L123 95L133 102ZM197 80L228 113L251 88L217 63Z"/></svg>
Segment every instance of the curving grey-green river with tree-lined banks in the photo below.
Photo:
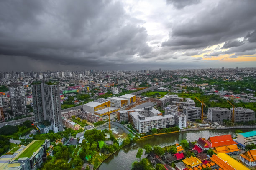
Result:
<svg viewBox="0 0 256 170"><path fill-rule="evenodd" d="M179 141L186 139L187 141L195 141L198 140L199 137L209 138L210 136L218 136L218 135L226 135L231 134L233 137L235 136L236 129L230 130L201 130L201 131L187 131L181 133L169 133L166 135L156 135L148 138L143 138L139 140L136 145L127 145L120 149L115 154L111 155L108 159L106 159L102 165L98 168L98 170L130 170L131 164L137 160L136 153L138 148L143 148L144 145L150 144L152 146L159 145L161 147L173 145L175 143L179 143ZM241 129L243 132L252 131L253 129ZM142 158L145 158L144 154ZM142 159L141 158L141 159Z"/></svg>

